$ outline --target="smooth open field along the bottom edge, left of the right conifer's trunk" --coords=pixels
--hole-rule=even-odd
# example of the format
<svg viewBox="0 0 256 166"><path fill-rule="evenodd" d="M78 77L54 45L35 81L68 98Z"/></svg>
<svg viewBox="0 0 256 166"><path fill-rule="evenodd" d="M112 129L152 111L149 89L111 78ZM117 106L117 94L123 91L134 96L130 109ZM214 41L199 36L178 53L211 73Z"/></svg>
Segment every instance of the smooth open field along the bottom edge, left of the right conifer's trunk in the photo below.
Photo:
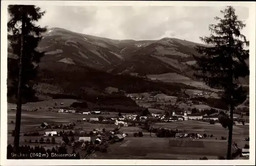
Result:
<svg viewBox="0 0 256 166"><path fill-rule="evenodd" d="M225 156L226 153L226 143L214 140L130 138L111 145L106 154L91 155L91 159L199 159L203 156L218 159L218 156Z"/></svg>

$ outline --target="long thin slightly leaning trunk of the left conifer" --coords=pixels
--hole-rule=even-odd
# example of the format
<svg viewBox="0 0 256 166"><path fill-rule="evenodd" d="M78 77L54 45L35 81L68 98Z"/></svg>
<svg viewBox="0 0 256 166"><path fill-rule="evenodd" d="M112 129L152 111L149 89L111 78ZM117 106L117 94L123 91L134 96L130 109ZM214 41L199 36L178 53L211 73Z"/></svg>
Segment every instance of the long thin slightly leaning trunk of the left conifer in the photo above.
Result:
<svg viewBox="0 0 256 166"><path fill-rule="evenodd" d="M18 90L17 90L17 110L16 110L16 122L15 122L15 134L14 134L14 152L19 152L19 133L20 133L20 121L22 117L22 61L24 56L24 36L25 36L25 10L23 10L22 16L22 36L20 42L20 57L19 57L19 74L18 74Z"/></svg>

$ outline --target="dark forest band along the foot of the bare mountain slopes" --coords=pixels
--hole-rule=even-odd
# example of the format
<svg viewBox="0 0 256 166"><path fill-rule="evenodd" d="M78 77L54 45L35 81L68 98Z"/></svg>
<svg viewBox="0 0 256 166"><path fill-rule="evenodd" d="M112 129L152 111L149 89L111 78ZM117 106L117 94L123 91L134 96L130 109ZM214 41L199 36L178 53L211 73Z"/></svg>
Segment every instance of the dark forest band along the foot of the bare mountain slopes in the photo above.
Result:
<svg viewBox="0 0 256 166"><path fill-rule="evenodd" d="M145 80L131 75L112 75L89 67L72 64L49 62L48 67L41 67L38 82L55 84L65 90L65 93L81 96L84 87L91 87L103 92L112 86L127 93L142 93L161 91L168 95L177 95L181 88L195 89L182 83L163 83Z"/></svg>

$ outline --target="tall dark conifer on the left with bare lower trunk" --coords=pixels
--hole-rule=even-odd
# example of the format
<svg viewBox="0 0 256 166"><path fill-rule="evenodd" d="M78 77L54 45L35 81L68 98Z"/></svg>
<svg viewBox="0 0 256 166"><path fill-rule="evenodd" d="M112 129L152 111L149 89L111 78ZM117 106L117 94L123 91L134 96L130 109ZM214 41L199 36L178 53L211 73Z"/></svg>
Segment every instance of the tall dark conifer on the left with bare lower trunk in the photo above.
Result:
<svg viewBox="0 0 256 166"><path fill-rule="evenodd" d="M8 65L8 80L11 80L8 96L17 99L14 149L18 152L22 102L34 96L31 80L36 77L37 63L44 56L44 52L40 53L35 49L42 38L40 34L46 32L46 28L40 28L34 22L45 12L33 5L9 5L8 13L8 40L13 54L17 55L18 59L16 64Z"/></svg>

